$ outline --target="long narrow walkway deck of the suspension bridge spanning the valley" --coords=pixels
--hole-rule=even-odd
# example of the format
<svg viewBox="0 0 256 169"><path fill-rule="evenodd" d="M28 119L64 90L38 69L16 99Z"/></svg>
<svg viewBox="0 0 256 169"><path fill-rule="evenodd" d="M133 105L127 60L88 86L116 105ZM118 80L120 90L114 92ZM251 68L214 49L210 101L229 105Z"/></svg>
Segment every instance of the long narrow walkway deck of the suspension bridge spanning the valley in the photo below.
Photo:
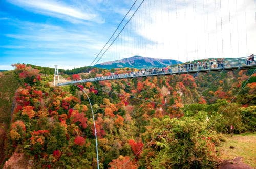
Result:
<svg viewBox="0 0 256 169"><path fill-rule="evenodd" d="M246 57L247 58L247 57ZM253 69L256 68L256 64L253 61L250 61L248 64L247 59L245 57L243 58L236 58L236 59L229 59L223 61L223 64L218 65L219 67L211 68L210 63L208 63L208 68L203 69L203 66L197 65L197 67L194 67L194 64L192 66L193 70L189 70L189 67L184 67L183 71L181 66L175 66L171 67L166 71L156 71L151 70L145 70L136 72L135 74L126 73L126 74L117 74L117 75L111 75L111 76L102 76L102 77L96 77L96 78L90 78L90 79L83 79L78 81L71 81L66 83L58 84L58 86L62 85L73 85L76 83L83 83L83 82L94 82L94 81L103 81L103 80L115 80L115 79L125 79L125 78L138 78L138 77L149 77L149 76L165 76L165 75L177 75L177 74L192 74L192 73L202 73L202 72L216 72L216 71L222 71L222 70L239 70L239 69ZM216 65L217 66L217 65Z"/></svg>

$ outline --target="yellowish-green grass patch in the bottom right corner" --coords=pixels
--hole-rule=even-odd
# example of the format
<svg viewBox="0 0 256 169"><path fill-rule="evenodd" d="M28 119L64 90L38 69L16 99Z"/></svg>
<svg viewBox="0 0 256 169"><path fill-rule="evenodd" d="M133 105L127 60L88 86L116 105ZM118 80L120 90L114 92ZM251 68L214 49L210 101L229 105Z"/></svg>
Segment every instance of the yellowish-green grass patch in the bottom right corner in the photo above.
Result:
<svg viewBox="0 0 256 169"><path fill-rule="evenodd" d="M256 133L226 135L226 138L226 142L216 148L218 157L224 160L243 157L244 163L256 168Z"/></svg>

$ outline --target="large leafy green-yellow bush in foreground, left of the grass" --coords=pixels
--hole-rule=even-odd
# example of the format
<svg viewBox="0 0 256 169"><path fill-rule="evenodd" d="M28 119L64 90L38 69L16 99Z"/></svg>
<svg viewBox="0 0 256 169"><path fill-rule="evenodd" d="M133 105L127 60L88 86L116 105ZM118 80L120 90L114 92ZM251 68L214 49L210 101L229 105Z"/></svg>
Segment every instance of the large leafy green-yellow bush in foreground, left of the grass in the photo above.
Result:
<svg viewBox="0 0 256 169"><path fill-rule="evenodd" d="M141 154L146 168L212 168L217 164L215 143L205 122L193 118L153 118L151 144ZM146 161L150 161L149 163Z"/></svg>

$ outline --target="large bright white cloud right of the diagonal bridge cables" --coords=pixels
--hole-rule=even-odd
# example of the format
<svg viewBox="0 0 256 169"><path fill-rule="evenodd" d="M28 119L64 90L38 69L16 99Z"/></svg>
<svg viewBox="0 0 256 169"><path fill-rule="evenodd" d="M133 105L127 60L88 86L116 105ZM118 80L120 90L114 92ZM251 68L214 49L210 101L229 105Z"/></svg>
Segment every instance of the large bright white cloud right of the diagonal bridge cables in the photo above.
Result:
<svg viewBox="0 0 256 169"><path fill-rule="evenodd" d="M176 3L177 10L175 1L144 1L106 57L142 55L186 62L256 53L253 0Z"/></svg>

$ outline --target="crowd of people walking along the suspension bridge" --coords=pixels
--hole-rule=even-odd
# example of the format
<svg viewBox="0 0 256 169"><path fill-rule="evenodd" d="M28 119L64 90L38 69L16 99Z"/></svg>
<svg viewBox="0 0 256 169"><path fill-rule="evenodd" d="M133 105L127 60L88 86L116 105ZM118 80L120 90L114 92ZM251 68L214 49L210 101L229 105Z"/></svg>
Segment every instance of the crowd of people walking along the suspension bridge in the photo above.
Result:
<svg viewBox="0 0 256 169"><path fill-rule="evenodd" d="M150 76L155 74L171 74L171 73L179 73L179 72L191 72L191 71L200 71L202 69L223 69L225 66L233 66L238 65L241 62L241 58L233 59L233 60L224 60L223 58L211 59L209 61L203 60L197 62L187 62L183 64L177 65L169 65L162 68L151 68L151 69L141 69L136 71L129 71L124 74L115 74L112 73L110 76L101 76L95 77L92 79L85 79L83 81L99 81L99 80L108 80L108 79L118 79L118 78L128 78L128 77L140 77L140 76ZM246 62L246 59L245 59ZM245 63L244 63L245 64ZM247 59L246 65L255 64L254 63L254 55L250 55Z"/></svg>

